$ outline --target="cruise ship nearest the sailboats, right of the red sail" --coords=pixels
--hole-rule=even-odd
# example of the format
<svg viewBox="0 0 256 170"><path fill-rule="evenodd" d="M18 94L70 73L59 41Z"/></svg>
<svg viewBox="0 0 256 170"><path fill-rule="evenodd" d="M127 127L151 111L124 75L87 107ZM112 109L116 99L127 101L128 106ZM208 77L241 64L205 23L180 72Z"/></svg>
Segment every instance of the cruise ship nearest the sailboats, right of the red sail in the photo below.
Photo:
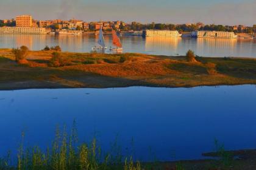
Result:
<svg viewBox="0 0 256 170"><path fill-rule="evenodd" d="M182 36L177 30L144 30L143 36L166 36L166 37L180 37Z"/></svg>

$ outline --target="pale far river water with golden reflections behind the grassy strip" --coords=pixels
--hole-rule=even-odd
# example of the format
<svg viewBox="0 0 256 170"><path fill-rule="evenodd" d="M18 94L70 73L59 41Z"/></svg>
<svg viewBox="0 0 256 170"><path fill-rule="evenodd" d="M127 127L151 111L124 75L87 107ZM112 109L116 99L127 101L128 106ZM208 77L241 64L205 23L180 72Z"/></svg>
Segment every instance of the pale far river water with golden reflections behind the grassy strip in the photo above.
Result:
<svg viewBox="0 0 256 170"><path fill-rule="evenodd" d="M32 50L41 50L46 45L62 47L64 51L90 52L98 36L84 35L0 35L0 48L26 45ZM105 36L107 46L112 38ZM211 38L142 38L123 36L123 52L138 52L154 55L185 55L188 49L200 56L246 56L256 57L256 39L211 39ZM109 52L108 50L106 52Z"/></svg>

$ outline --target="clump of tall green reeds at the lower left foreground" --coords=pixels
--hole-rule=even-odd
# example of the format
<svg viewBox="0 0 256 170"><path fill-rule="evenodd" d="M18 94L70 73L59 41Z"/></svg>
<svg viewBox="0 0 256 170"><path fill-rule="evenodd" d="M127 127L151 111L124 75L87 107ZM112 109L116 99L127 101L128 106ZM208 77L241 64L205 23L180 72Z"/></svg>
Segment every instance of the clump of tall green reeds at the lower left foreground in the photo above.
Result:
<svg viewBox="0 0 256 170"><path fill-rule="evenodd" d="M103 154L96 138L90 143L78 144L75 121L71 133L66 131L65 126L63 131L57 126L52 146L46 149L38 146L25 148L25 134L22 133L16 166L11 166L10 158L1 158L0 169L141 169L139 161L133 162L132 156L124 157L115 149Z"/></svg>

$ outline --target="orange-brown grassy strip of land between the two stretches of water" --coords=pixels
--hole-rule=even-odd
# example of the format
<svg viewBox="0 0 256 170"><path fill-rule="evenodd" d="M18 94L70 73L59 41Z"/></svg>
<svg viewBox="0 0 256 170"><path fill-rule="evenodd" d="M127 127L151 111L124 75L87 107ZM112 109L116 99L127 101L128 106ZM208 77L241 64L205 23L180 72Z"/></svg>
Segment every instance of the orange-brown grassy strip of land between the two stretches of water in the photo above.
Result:
<svg viewBox="0 0 256 170"><path fill-rule="evenodd" d="M52 51L30 51L17 64L11 49L0 49L0 89L195 87L256 84L253 58L154 56L139 53L60 53L61 67L49 67Z"/></svg>

